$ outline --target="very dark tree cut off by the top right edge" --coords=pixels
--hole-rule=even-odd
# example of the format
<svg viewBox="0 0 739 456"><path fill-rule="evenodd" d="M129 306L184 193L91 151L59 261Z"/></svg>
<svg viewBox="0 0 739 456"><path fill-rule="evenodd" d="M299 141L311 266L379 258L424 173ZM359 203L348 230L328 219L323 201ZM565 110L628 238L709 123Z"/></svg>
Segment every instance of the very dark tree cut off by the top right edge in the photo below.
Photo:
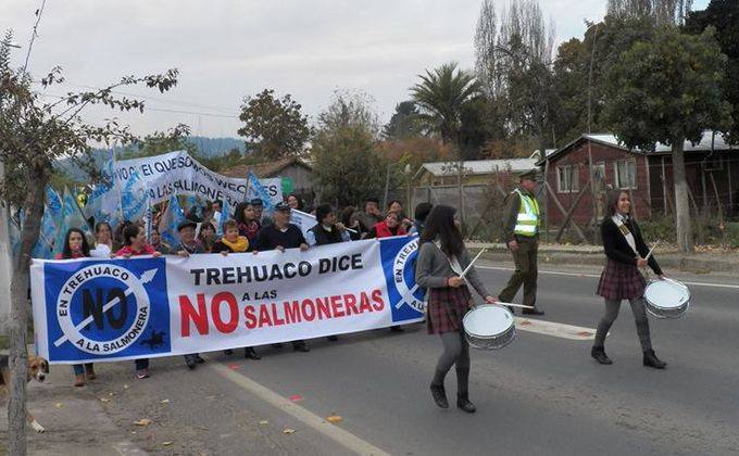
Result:
<svg viewBox="0 0 739 456"><path fill-rule="evenodd" d="M739 143L739 1L712 0L704 11L690 13L685 29L701 34L709 26L716 28L716 40L728 58L725 91L734 122L727 132L731 142Z"/></svg>

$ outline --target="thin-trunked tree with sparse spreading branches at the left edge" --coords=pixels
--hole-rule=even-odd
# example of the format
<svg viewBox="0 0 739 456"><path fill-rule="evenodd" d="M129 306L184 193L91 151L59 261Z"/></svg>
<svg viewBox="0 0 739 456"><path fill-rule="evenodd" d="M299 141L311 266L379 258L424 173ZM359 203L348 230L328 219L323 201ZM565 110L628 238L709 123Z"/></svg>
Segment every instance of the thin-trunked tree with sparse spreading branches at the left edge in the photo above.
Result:
<svg viewBox="0 0 739 456"><path fill-rule="evenodd" d="M0 162L4 165L3 202L25 211L21 231L20 252L13 258L11 281L10 357L11 392L8 404L9 453L25 454L25 406L28 325L28 274L30 252L39 236L43 213L42 190L52 175L52 165L68 157L77 166L88 167L95 163L88 141L110 143L133 139L126 127L115 119L105 125L85 123L80 113L88 106L99 104L121 111L143 111L143 102L117 97L116 88L145 85L160 91L170 90L177 84L177 71L143 77L126 76L103 89L68 93L53 103L41 101L41 96L30 87L32 78L25 68L10 67L12 34L5 34L0 42ZM53 68L41 79L43 89L62 81L61 69ZM36 189L37 191L28 191Z"/></svg>

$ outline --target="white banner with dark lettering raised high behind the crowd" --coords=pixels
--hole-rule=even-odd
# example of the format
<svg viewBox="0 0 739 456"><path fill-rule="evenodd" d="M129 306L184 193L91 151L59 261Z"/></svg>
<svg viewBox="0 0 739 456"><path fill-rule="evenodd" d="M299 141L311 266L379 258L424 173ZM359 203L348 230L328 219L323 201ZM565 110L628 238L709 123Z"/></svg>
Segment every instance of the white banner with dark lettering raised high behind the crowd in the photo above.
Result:
<svg viewBox="0 0 739 456"><path fill-rule="evenodd" d="M231 206L236 206L245 198L250 200L259 197L247 183L247 176L222 176L201 165L187 151L121 160L115 162L113 174L116 191L125 190L133 194L146 191L151 204L161 203L173 195L195 194L205 201L228 200ZM135 182L126 186L129 180ZM260 179L260 183L267 189L274 204L283 201L281 179ZM111 199L118 198L115 191L109 192L109 195Z"/></svg>

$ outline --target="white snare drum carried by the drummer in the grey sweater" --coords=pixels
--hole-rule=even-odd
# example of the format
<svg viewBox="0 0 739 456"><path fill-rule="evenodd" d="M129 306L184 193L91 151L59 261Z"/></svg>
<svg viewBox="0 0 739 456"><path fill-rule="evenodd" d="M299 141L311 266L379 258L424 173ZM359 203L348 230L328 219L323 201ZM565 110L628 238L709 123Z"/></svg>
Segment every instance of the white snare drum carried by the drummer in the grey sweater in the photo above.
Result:
<svg viewBox="0 0 739 456"><path fill-rule="evenodd" d="M462 319L464 337L475 349L498 350L516 337L513 315L508 308L494 304L479 305Z"/></svg>

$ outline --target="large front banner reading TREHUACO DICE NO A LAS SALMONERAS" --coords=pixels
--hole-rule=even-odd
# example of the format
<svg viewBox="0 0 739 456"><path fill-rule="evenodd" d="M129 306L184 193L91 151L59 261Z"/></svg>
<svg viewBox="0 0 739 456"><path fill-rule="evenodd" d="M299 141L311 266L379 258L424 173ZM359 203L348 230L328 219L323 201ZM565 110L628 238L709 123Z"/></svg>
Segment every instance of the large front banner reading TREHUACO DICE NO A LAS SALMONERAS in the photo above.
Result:
<svg viewBox="0 0 739 456"><path fill-rule="evenodd" d="M300 252L34 259L36 343L57 364L263 345L423 318L416 237Z"/></svg>

